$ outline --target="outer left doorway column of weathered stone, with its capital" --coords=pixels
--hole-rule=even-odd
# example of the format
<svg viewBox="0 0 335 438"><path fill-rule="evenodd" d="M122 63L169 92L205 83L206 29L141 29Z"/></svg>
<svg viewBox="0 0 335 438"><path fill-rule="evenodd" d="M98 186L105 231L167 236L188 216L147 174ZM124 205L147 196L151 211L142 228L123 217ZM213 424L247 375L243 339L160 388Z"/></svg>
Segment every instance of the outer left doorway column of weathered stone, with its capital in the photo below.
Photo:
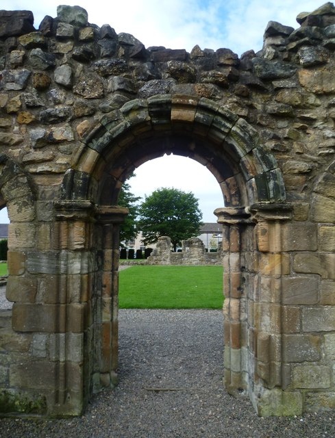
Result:
<svg viewBox="0 0 335 438"><path fill-rule="evenodd" d="M81 413L90 395L96 249L95 206L90 201L60 201L55 205L55 246L58 259L55 284L62 322L51 334L50 356L58 363L58 398L54 413ZM47 279L46 279L47 282ZM64 303L64 304L63 304Z"/></svg>

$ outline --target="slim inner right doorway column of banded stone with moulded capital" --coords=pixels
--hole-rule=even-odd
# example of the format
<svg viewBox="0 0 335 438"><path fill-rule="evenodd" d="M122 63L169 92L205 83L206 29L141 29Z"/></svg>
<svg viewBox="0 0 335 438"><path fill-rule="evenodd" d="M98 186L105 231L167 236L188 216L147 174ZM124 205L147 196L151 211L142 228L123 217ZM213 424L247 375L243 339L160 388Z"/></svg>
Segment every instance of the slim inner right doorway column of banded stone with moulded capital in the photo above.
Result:
<svg viewBox="0 0 335 438"><path fill-rule="evenodd" d="M253 228L250 214L244 208L220 208L215 212L223 225L223 305L225 327L225 387L229 394L240 395L247 389L247 313L245 294L245 257Z"/></svg>

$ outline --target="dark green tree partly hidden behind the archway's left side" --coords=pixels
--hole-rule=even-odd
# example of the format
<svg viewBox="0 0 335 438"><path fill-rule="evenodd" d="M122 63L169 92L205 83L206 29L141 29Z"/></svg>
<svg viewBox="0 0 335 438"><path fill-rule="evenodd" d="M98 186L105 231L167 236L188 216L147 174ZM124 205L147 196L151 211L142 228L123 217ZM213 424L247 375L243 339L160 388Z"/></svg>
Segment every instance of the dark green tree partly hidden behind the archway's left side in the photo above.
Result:
<svg viewBox="0 0 335 438"><path fill-rule="evenodd" d="M131 177L134 177L134 175L131 175ZM129 214L125 217L125 222L123 222L120 227L121 246L123 246L124 242L127 242L127 240L133 240L136 237L138 201L140 201L140 197L134 196L134 194L130 192L130 185L127 182L123 183L119 194L118 204L121 205L121 207L127 207L127 209L129 209Z"/></svg>

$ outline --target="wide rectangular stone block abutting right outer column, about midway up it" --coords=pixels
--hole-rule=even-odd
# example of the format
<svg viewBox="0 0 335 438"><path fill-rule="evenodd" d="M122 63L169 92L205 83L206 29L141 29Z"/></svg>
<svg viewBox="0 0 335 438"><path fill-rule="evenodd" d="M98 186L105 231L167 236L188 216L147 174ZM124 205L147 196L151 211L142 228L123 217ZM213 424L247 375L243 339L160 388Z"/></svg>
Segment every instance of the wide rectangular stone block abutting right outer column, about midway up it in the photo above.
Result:
<svg viewBox="0 0 335 438"><path fill-rule="evenodd" d="M284 305L310 305L319 301L319 279L316 276L284 276L282 279Z"/></svg>

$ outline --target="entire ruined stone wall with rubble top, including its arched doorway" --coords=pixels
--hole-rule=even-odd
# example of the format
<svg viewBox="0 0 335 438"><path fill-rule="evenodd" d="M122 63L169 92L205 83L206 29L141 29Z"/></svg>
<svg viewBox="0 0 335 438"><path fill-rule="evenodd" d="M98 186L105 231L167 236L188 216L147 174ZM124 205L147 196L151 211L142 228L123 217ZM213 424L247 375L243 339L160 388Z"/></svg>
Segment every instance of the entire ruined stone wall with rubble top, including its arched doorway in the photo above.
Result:
<svg viewBox="0 0 335 438"><path fill-rule="evenodd" d="M116 382L118 194L171 152L223 192L227 391L259 415L334 409L334 5L297 22L238 57L146 48L79 7L39 29L0 11L2 413L80 415Z"/></svg>

